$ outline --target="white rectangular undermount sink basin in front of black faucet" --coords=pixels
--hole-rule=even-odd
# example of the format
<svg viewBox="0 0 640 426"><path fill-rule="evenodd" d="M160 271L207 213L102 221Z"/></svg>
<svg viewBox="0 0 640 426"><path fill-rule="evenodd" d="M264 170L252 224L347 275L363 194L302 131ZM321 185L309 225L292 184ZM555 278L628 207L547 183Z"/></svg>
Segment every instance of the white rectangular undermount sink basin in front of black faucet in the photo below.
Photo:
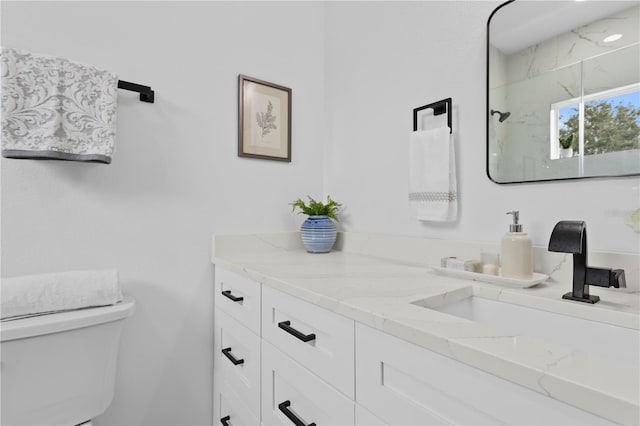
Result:
<svg viewBox="0 0 640 426"><path fill-rule="evenodd" d="M452 302L444 301L440 305L436 303L425 299L413 304L466 318L508 333L536 337L572 347L609 362L617 361L635 365L640 359L640 332L636 329L476 295L467 295Z"/></svg>

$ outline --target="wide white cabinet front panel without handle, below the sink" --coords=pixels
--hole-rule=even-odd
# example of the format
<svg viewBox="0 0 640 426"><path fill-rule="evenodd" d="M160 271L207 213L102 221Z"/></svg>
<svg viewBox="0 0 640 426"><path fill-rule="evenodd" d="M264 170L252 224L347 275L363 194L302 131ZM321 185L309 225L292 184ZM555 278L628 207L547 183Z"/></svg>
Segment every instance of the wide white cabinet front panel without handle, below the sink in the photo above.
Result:
<svg viewBox="0 0 640 426"><path fill-rule="evenodd" d="M357 403L389 424L609 424L362 324L356 354Z"/></svg>

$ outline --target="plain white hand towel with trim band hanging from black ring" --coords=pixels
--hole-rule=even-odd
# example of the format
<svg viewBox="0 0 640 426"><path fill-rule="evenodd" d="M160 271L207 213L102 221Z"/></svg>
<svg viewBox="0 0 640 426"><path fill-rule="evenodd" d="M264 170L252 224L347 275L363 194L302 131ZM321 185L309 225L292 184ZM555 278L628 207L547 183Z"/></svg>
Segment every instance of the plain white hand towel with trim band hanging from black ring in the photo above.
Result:
<svg viewBox="0 0 640 426"><path fill-rule="evenodd" d="M415 217L426 221L456 220L456 159L449 127L413 132L409 159L409 205Z"/></svg>

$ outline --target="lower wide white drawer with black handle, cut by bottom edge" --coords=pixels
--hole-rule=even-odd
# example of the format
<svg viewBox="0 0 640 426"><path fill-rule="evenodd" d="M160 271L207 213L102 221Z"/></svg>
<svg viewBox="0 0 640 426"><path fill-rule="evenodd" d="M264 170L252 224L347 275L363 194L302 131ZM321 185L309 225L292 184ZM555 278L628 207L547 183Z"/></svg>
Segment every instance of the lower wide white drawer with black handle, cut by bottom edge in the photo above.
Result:
<svg viewBox="0 0 640 426"><path fill-rule="evenodd" d="M340 392L262 341L262 423L353 425L354 404Z"/></svg>

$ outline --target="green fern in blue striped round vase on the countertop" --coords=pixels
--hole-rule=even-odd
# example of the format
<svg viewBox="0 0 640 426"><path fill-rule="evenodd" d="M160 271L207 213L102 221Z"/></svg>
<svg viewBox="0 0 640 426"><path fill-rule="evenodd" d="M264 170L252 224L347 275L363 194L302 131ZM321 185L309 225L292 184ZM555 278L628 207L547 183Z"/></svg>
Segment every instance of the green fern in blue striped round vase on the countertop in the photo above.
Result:
<svg viewBox="0 0 640 426"><path fill-rule="evenodd" d="M308 203L298 198L290 203L291 211L308 217L300 227L302 243L309 253L328 253L336 242L338 231L334 221L338 220L338 210L342 204L327 195L327 202L316 201L307 195Z"/></svg>

